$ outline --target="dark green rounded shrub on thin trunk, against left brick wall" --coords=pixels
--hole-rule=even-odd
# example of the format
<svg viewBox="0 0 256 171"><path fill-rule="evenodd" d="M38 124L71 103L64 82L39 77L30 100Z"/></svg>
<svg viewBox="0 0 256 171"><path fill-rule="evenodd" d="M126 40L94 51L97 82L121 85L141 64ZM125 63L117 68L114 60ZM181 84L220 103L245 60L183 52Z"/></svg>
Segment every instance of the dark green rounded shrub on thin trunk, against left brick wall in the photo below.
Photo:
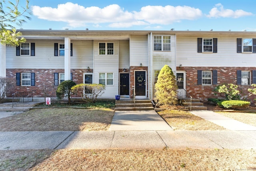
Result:
<svg viewBox="0 0 256 171"><path fill-rule="evenodd" d="M72 80L66 80L57 87L56 96L59 100L64 97L68 97L68 103L70 104L71 88L76 85Z"/></svg>

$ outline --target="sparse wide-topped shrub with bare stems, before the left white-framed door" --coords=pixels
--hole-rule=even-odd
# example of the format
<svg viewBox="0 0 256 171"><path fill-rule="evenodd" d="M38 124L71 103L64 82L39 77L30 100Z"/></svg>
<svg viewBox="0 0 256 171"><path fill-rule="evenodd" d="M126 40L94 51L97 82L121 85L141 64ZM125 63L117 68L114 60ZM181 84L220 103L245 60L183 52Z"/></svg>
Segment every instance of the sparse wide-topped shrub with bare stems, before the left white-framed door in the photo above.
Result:
<svg viewBox="0 0 256 171"><path fill-rule="evenodd" d="M73 94L80 94L83 101L95 102L98 96L104 93L106 85L103 84L78 84L71 88Z"/></svg>

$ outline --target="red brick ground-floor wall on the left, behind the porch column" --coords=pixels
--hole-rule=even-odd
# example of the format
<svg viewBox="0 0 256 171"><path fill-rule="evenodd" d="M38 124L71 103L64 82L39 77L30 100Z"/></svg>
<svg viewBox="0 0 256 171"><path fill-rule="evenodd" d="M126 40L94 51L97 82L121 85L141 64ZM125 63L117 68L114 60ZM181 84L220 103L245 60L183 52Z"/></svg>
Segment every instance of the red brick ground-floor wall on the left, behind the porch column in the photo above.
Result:
<svg viewBox="0 0 256 171"><path fill-rule="evenodd" d="M35 97L44 97L42 88L45 84L48 84L50 87L54 85L54 73L64 73L64 69L52 70L52 69L6 69L6 77L13 78L16 81L17 72L31 72L35 73L35 86L15 86L14 90L10 92L10 95L16 91L33 91ZM72 80L76 84L83 83L83 73L93 72L92 69L72 69ZM14 83L16 85L16 82ZM10 96L9 95L9 96Z"/></svg>

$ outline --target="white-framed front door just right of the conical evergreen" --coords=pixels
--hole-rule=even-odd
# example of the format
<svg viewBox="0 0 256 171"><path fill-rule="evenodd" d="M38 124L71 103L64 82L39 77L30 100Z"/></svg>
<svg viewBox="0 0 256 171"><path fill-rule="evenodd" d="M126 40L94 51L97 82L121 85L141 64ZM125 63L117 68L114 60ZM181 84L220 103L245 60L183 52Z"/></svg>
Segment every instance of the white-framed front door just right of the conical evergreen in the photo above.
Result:
<svg viewBox="0 0 256 171"><path fill-rule="evenodd" d="M177 71L176 72L176 82L178 85L177 95L178 97L186 96L186 71Z"/></svg>

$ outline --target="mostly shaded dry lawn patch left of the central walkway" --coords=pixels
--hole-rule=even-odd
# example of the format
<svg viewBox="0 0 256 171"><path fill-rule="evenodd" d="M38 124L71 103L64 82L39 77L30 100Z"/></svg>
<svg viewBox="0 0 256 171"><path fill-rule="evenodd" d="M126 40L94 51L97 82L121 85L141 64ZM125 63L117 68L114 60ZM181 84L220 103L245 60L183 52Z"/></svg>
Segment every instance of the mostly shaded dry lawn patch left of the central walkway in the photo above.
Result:
<svg viewBox="0 0 256 171"><path fill-rule="evenodd" d="M32 109L0 119L0 131L101 131L113 116L113 109Z"/></svg>

